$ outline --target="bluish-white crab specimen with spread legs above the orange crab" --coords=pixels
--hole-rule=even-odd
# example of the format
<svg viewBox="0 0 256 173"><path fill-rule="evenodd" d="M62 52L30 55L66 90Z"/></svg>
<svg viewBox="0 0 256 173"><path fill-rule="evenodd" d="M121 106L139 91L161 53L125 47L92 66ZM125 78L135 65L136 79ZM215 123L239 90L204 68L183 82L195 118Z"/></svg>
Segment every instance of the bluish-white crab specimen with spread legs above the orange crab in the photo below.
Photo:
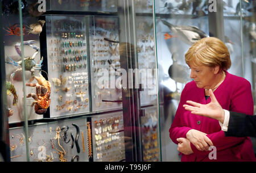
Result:
<svg viewBox="0 0 256 173"><path fill-rule="evenodd" d="M41 70L42 62L43 62L43 57L42 57L42 60L40 61L40 64L35 63L35 60L34 60L35 56L40 52L40 49L38 47L36 47L35 45L32 45L32 43L36 43L36 41L34 41L34 40L23 41L23 45L29 45L30 47L32 47L33 49L36 50L36 52L32 55L32 57L24 58L25 70L31 72L30 82L32 82L34 80L35 70ZM16 43L14 47L15 47L16 52L19 54L19 56L22 57L22 53L20 52L20 43ZM21 67L22 61L20 60L18 62L15 62L11 57L8 57L8 58L12 62L6 62L7 64L11 64L11 65L14 65L14 66L20 66L18 69L16 69L11 74L11 82L13 83L13 79L14 79L15 74L22 71L22 67Z"/></svg>

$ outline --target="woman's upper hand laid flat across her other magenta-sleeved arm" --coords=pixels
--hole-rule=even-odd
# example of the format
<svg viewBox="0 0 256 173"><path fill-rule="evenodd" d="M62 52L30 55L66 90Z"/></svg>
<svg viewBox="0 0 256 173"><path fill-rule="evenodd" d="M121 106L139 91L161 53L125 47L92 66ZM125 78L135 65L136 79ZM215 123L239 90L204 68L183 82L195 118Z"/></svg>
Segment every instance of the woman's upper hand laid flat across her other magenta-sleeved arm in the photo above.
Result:
<svg viewBox="0 0 256 173"><path fill-rule="evenodd" d="M206 133L199 130L191 129L186 134L187 139L196 146L197 150L208 151L209 146L213 146L212 141L207 137Z"/></svg>

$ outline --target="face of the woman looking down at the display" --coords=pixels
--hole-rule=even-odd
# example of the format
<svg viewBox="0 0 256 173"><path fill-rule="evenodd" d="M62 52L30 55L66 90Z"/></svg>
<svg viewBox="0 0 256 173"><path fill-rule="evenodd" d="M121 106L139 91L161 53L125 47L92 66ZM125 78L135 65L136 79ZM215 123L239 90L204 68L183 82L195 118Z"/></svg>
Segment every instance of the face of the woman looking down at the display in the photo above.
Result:
<svg viewBox="0 0 256 173"><path fill-rule="evenodd" d="M191 68L190 77L196 82L199 88L213 88L216 84L216 67L189 65ZM217 67L218 68L218 67Z"/></svg>

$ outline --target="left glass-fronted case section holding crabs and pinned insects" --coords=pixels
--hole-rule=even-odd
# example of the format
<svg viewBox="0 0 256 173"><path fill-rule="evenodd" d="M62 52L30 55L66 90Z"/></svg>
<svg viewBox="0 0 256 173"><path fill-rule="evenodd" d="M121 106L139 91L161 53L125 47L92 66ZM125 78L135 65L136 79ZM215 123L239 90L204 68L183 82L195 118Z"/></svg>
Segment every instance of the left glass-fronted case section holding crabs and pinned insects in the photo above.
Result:
<svg viewBox="0 0 256 173"><path fill-rule="evenodd" d="M2 6L11 161L161 160L152 1Z"/></svg>

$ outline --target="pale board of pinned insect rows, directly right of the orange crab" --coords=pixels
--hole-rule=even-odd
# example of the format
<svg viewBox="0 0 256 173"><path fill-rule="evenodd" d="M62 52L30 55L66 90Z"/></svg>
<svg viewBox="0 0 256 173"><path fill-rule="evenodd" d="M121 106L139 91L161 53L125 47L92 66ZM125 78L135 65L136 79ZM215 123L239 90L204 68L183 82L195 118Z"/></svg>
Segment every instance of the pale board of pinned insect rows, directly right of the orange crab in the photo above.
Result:
<svg viewBox="0 0 256 173"><path fill-rule="evenodd" d="M90 111L86 18L46 16L48 78L52 82L49 117ZM73 104L74 103L74 104Z"/></svg>

